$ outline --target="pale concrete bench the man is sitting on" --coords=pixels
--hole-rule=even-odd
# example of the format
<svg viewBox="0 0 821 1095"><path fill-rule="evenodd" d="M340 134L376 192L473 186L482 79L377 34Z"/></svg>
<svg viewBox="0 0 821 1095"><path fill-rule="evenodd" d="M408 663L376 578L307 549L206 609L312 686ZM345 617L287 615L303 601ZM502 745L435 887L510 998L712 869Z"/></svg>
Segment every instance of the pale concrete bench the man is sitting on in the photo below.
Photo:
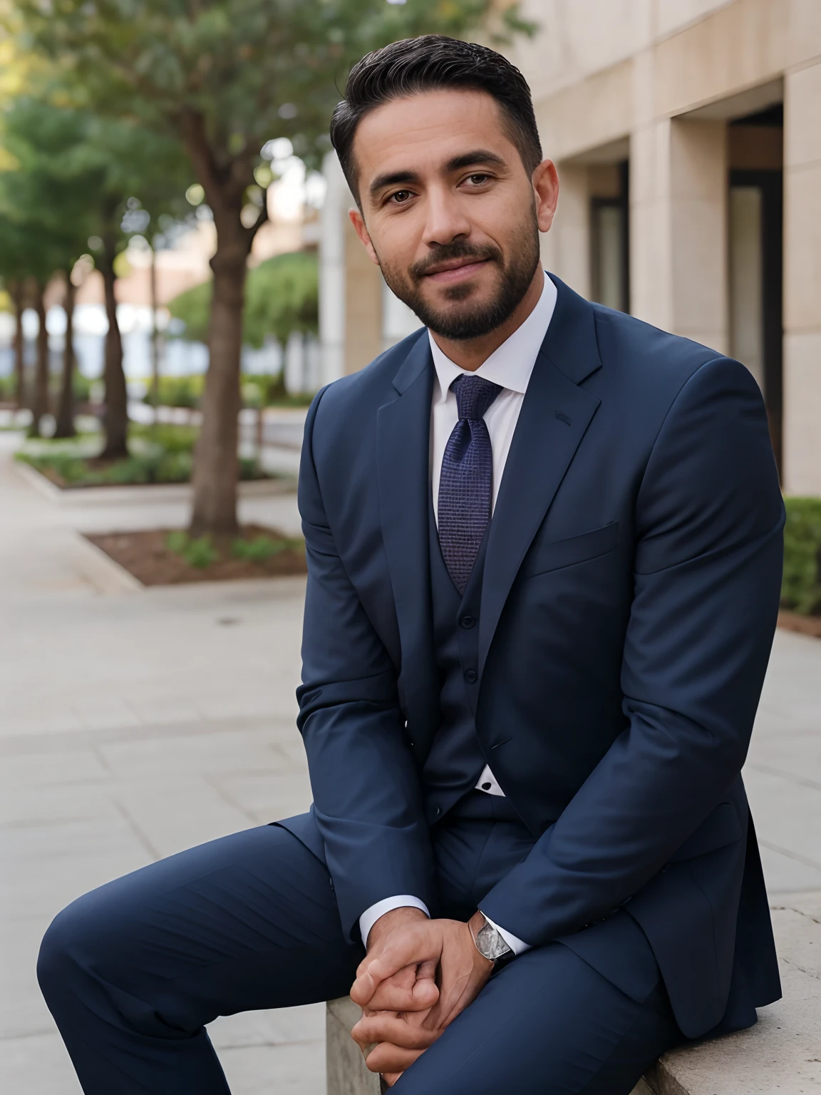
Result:
<svg viewBox="0 0 821 1095"><path fill-rule="evenodd" d="M774 899L784 999L750 1030L664 1056L633 1095L821 1095L821 892ZM327 1095L380 1095L350 1029L359 1008L327 1005Z"/></svg>

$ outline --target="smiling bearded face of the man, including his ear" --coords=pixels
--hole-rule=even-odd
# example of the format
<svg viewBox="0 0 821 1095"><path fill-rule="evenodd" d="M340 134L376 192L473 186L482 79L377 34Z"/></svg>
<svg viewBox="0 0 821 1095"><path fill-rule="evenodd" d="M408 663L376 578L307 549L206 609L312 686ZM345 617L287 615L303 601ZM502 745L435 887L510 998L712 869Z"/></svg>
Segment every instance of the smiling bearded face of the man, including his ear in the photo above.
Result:
<svg viewBox="0 0 821 1095"><path fill-rule="evenodd" d="M362 211L351 220L396 296L447 338L504 323L537 268L555 169L531 178L495 100L433 91L385 103L360 122L354 157Z"/></svg>

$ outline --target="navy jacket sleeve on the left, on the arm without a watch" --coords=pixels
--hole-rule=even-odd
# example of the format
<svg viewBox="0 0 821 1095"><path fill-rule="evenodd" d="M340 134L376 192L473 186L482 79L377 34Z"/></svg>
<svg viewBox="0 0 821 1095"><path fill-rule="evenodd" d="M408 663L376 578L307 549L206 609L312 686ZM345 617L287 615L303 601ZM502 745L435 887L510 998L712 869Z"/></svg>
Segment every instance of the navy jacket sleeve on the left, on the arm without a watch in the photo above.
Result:
<svg viewBox="0 0 821 1095"><path fill-rule="evenodd" d="M322 500L313 430L323 394L305 422L300 464L308 590L298 726L343 927L356 940L370 906L413 894L431 907L435 890L396 670L346 573Z"/></svg>

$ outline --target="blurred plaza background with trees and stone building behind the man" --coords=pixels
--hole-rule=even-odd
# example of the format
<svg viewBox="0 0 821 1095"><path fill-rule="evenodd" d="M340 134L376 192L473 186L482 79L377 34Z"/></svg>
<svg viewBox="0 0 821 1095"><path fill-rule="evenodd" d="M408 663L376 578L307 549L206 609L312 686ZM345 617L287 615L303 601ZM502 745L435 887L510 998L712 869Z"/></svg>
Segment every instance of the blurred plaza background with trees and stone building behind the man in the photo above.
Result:
<svg viewBox="0 0 821 1095"><path fill-rule="evenodd" d="M327 125L427 32L529 80L546 268L761 385L788 521L745 776L774 900L821 891L817 0L0 0L4 1092L79 1091L33 976L62 904L310 803L305 408L418 326ZM238 1095L324 1091L321 1008L212 1036Z"/></svg>

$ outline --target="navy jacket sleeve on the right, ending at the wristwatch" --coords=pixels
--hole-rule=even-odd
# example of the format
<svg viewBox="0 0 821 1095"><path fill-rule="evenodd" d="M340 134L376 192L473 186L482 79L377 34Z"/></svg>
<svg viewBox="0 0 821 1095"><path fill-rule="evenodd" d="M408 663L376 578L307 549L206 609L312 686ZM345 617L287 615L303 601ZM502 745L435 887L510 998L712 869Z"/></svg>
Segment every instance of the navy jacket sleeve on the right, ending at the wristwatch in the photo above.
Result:
<svg viewBox="0 0 821 1095"><path fill-rule="evenodd" d="M683 385L636 498L626 728L482 901L531 944L608 915L741 770L775 631L784 506L761 393L719 358Z"/></svg>

